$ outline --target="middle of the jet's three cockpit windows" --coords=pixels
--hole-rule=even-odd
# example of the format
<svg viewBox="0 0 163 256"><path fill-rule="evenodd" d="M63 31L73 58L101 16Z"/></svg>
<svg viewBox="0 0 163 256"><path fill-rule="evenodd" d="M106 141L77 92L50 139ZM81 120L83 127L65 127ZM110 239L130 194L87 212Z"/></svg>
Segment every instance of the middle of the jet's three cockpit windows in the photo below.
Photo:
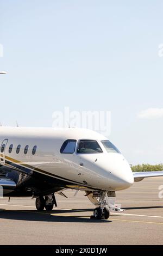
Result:
<svg viewBox="0 0 163 256"><path fill-rule="evenodd" d="M97 154L103 153L97 141L81 139L77 149L78 154Z"/></svg>

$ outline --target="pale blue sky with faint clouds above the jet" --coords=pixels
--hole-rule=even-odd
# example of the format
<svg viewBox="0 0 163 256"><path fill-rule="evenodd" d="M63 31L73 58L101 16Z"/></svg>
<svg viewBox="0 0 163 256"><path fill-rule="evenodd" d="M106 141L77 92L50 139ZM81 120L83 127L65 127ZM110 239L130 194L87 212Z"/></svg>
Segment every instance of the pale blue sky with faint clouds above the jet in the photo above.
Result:
<svg viewBox="0 0 163 256"><path fill-rule="evenodd" d="M163 117L150 116L163 107L161 0L0 5L2 124L52 126L65 106L111 111L109 138L130 163L163 162Z"/></svg>

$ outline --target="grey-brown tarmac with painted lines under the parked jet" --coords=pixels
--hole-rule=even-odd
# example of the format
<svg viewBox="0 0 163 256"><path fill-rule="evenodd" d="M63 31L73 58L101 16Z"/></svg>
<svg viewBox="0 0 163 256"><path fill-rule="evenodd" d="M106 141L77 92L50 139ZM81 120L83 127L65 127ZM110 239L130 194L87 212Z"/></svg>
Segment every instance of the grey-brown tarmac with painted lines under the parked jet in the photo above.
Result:
<svg viewBox="0 0 163 256"><path fill-rule="evenodd" d="M42 212L35 199L0 199L0 245L162 245L160 188L163 178L146 178L116 192L124 211L108 220L90 218L95 206L84 191L65 190L68 198L57 195L58 207Z"/></svg>

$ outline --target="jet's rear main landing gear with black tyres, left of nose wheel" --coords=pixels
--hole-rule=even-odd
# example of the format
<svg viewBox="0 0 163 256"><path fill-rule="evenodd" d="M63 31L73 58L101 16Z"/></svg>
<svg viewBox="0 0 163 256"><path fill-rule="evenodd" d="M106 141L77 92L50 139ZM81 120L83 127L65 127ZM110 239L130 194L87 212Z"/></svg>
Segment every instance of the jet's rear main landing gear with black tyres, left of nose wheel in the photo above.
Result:
<svg viewBox="0 0 163 256"><path fill-rule="evenodd" d="M57 206L54 194L48 194L45 197L39 196L36 198L36 209L43 211L45 208L47 211L52 211L53 206Z"/></svg>

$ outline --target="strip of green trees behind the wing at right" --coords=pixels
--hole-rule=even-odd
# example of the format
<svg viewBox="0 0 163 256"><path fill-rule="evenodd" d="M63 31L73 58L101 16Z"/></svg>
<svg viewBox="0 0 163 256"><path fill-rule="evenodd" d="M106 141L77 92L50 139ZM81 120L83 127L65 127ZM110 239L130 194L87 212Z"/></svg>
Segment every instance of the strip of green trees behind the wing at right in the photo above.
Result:
<svg viewBox="0 0 163 256"><path fill-rule="evenodd" d="M155 170L163 170L163 164L137 164L136 166L130 165L133 172L154 172Z"/></svg>

